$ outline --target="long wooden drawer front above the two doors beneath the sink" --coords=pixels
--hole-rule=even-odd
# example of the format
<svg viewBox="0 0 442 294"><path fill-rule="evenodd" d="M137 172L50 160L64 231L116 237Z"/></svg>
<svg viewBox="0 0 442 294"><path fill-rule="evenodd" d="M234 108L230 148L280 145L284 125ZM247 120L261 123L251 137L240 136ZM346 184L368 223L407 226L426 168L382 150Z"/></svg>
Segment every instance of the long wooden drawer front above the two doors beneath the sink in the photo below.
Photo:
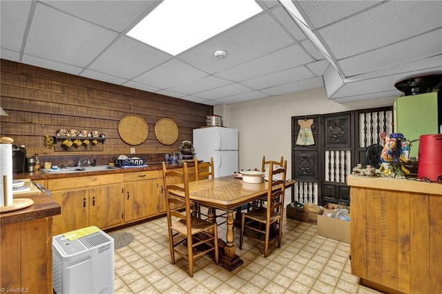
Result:
<svg viewBox="0 0 442 294"><path fill-rule="evenodd" d="M124 175L90 175L86 177L66 177L63 179L48 179L49 190L64 190L80 187L99 186L122 183Z"/></svg>

